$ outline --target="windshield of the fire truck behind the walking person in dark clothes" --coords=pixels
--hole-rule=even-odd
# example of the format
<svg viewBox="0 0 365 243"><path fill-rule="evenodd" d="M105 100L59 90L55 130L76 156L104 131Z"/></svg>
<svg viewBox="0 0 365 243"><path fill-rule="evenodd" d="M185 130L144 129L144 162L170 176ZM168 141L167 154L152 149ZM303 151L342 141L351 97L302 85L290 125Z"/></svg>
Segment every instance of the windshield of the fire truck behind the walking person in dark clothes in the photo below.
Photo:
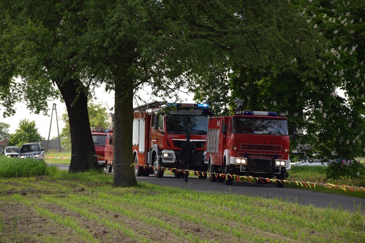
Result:
<svg viewBox="0 0 365 243"><path fill-rule="evenodd" d="M173 134L207 134L208 117L189 115L168 115L166 117L167 133Z"/></svg>

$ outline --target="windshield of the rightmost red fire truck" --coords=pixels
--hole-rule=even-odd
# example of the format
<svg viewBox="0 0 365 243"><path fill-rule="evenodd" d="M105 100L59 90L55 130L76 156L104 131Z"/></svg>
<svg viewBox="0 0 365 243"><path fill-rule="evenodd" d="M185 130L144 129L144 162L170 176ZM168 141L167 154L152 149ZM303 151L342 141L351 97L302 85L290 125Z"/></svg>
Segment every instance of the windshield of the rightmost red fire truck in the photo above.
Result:
<svg viewBox="0 0 365 243"><path fill-rule="evenodd" d="M288 135L288 121L257 118L234 118L233 133Z"/></svg>

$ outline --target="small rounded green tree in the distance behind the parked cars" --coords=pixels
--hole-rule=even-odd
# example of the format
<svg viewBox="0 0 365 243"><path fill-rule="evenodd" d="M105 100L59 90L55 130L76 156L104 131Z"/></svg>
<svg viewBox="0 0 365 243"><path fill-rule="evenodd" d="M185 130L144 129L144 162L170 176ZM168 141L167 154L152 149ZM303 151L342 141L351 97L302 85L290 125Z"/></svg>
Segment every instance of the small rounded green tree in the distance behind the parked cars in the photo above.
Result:
<svg viewBox="0 0 365 243"><path fill-rule="evenodd" d="M9 145L21 146L27 142L38 142L43 138L40 136L35 121L29 121L23 119L19 122L19 127L15 130L15 134L12 134L12 138L9 140Z"/></svg>

